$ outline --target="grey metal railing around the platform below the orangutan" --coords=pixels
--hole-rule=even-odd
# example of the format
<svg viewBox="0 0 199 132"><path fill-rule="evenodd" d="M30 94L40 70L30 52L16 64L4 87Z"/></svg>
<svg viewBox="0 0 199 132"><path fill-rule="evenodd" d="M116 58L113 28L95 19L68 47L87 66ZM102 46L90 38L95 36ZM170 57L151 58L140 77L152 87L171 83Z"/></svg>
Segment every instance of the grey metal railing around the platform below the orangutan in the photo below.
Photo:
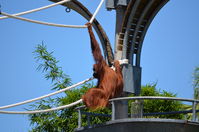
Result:
<svg viewBox="0 0 199 132"><path fill-rule="evenodd" d="M90 117L91 116L102 116L102 117L109 117L111 120L115 120L115 102L116 101L122 101L122 100L170 100L170 101L183 101L183 102L191 102L192 103L192 110L185 110L185 111L170 111L170 112L158 112L158 113L141 113L141 118L143 116L154 116L154 115L168 115L168 114L187 114L187 113L192 113L192 121L196 122L197 121L197 114L199 110L196 110L196 105L199 103L199 100L195 99L185 99L185 98L176 98L176 97L158 97L158 96L137 96L137 97L121 97L121 98L114 98L110 99L110 103L112 105L112 113L111 115L109 114L100 114L100 113L91 113L91 112L85 112L82 111L85 106L77 107L78 110L78 128L81 127L82 124L82 115L87 115L87 122L88 126L90 126ZM141 107L141 111L143 111L143 106Z"/></svg>

